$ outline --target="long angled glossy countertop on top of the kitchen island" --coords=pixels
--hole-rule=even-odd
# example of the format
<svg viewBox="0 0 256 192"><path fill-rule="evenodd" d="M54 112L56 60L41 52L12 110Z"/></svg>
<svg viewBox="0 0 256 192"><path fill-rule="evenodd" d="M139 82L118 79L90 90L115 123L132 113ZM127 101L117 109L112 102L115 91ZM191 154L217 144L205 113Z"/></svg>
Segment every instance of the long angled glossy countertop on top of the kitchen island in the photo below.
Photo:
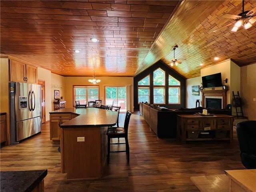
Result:
<svg viewBox="0 0 256 192"><path fill-rule="evenodd" d="M118 118L118 112L105 110L100 108L64 108L50 112L54 113L74 113L79 116L64 122L60 128L73 128L73 127L100 127L100 126L114 126Z"/></svg>

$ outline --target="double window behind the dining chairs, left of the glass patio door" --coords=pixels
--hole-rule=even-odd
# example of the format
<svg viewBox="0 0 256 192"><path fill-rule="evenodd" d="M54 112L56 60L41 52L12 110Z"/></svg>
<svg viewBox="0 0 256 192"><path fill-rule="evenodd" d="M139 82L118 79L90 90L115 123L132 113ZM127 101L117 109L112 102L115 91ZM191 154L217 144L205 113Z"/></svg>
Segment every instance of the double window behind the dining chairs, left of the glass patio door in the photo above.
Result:
<svg viewBox="0 0 256 192"><path fill-rule="evenodd" d="M74 101L79 100L80 104L88 104L88 101L95 101L99 99L99 87L98 86L73 86Z"/></svg>

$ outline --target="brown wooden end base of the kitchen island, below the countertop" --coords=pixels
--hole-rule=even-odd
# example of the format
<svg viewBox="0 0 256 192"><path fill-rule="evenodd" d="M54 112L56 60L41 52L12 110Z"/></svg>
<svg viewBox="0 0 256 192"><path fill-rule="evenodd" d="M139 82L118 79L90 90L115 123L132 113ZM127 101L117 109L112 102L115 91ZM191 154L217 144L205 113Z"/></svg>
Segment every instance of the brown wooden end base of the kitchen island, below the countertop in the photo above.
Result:
<svg viewBox="0 0 256 192"><path fill-rule="evenodd" d="M97 179L102 176L107 154L107 127L61 129L62 173L68 179ZM78 142L84 137L84 142Z"/></svg>

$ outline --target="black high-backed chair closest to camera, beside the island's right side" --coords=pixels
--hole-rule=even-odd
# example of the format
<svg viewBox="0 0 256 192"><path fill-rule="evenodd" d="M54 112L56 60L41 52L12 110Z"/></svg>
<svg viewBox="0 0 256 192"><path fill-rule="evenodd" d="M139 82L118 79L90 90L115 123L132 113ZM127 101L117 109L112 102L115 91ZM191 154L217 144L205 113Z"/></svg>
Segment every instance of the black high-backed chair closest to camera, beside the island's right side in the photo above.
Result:
<svg viewBox="0 0 256 192"><path fill-rule="evenodd" d="M124 120L124 127L112 127L108 128L107 130L107 136L108 136L108 156L107 156L107 162L109 164L109 157L110 153L117 153L117 152L126 152L127 155L127 162L130 161L130 148L129 148L129 142L128 142L128 127L130 122L130 117L132 113L128 110L126 112L125 120ZM112 138L124 138L125 143L120 143L119 141L117 143L111 143ZM120 145L125 144L125 150L117 150L117 151L111 151L110 145Z"/></svg>

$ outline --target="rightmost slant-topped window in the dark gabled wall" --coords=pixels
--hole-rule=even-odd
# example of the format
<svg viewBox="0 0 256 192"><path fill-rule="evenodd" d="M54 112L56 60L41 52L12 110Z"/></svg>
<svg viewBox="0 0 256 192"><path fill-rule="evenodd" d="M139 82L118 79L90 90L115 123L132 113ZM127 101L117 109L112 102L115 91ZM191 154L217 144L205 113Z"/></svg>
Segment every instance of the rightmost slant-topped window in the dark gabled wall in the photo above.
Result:
<svg viewBox="0 0 256 192"><path fill-rule="evenodd" d="M173 78L172 76L168 76L168 92L169 104L179 104L180 103L180 82Z"/></svg>

